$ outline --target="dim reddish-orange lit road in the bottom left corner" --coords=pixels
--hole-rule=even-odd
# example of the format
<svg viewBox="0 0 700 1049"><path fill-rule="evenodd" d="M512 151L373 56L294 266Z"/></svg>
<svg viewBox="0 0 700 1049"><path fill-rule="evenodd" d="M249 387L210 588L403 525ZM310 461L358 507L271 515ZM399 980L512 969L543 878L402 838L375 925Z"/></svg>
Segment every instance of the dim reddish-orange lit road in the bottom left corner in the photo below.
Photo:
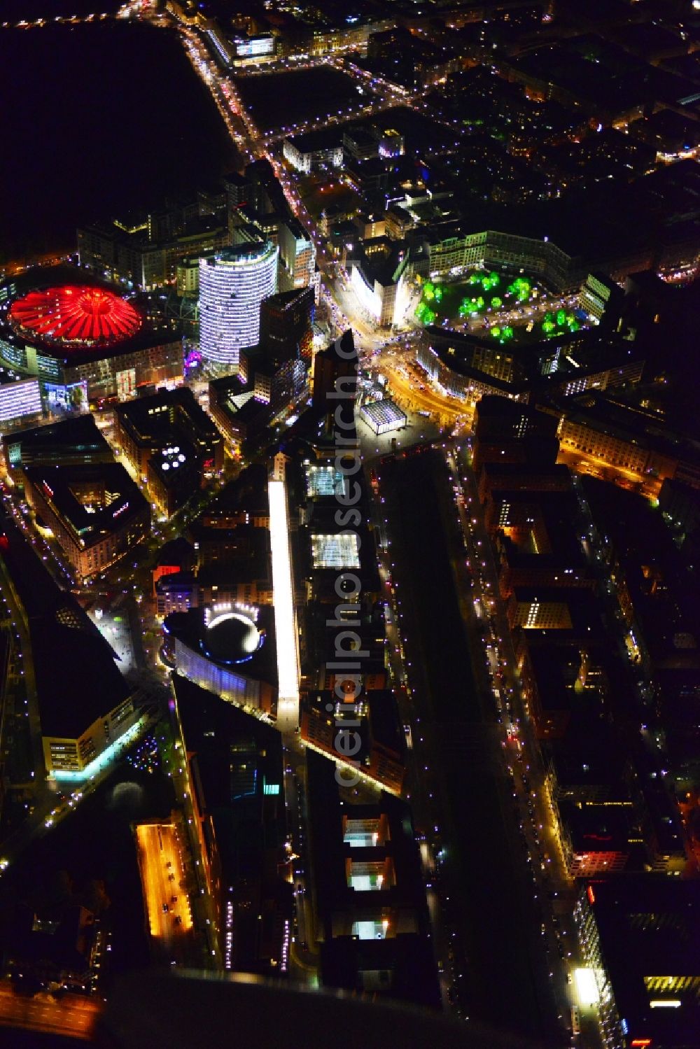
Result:
<svg viewBox="0 0 700 1049"><path fill-rule="evenodd" d="M0 982L0 1026L88 1041L101 1007L102 999L81 994L65 994L59 1000L47 993L27 998L17 994L7 981Z"/></svg>

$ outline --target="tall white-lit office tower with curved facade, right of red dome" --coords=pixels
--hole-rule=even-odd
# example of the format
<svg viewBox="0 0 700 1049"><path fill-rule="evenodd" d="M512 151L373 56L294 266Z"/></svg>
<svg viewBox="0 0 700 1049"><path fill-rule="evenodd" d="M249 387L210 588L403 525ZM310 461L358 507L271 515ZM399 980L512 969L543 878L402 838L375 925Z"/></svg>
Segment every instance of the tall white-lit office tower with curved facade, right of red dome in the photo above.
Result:
<svg viewBox="0 0 700 1049"><path fill-rule="evenodd" d="M256 346L260 303L277 291L277 248L270 240L225 248L199 259L199 350L207 363L235 373Z"/></svg>

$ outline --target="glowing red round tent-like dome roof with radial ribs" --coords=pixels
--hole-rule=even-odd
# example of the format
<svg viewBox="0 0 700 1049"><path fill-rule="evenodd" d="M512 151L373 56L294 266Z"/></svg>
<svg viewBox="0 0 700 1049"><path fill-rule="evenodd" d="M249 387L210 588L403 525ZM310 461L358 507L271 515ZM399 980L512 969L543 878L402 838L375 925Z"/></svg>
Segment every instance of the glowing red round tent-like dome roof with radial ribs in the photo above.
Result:
<svg viewBox="0 0 700 1049"><path fill-rule="evenodd" d="M77 284L29 292L12 304L9 319L25 333L76 345L120 342L141 327L141 317L125 299L104 287Z"/></svg>

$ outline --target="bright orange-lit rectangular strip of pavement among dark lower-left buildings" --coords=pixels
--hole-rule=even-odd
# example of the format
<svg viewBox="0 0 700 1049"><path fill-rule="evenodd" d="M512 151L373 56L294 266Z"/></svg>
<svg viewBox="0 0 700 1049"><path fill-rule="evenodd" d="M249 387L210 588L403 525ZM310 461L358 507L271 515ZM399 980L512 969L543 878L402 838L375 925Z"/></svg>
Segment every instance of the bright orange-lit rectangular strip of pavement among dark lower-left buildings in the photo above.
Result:
<svg viewBox="0 0 700 1049"><path fill-rule="evenodd" d="M154 951L183 961L192 928L185 870L173 823L140 823L139 866Z"/></svg>

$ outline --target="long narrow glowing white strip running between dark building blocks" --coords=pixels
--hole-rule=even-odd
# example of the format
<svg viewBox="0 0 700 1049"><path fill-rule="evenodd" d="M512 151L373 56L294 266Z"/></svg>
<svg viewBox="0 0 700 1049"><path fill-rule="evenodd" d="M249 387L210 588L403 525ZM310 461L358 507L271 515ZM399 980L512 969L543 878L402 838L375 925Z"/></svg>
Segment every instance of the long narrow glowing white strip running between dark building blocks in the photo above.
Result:
<svg viewBox="0 0 700 1049"><path fill-rule="evenodd" d="M299 724L299 658L292 593L292 561L283 480L268 484L270 544L272 551L272 602L277 643L277 727L293 731Z"/></svg>

